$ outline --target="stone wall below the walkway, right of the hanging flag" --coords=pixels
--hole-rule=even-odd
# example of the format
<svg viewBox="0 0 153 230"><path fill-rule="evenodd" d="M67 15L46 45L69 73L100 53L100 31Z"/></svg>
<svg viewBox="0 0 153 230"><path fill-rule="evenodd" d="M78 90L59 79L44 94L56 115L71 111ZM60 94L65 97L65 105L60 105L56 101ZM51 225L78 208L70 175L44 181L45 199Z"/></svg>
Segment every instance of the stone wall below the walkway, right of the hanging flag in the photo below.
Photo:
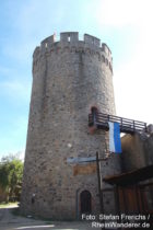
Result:
<svg viewBox="0 0 153 230"><path fill-rule="evenodd" d="M122 171L153 164L153 134L125 135L121 138Z"/></svg>

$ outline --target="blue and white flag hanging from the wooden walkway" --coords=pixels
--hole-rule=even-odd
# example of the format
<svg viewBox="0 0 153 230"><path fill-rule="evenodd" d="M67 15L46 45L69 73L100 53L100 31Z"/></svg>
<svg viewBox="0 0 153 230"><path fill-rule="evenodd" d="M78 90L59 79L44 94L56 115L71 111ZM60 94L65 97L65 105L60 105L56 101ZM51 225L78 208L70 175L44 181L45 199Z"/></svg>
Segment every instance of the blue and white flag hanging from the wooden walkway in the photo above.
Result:
<svg viewBox="0 0 153 230"><path fill-rule="evenodd" d="M118 123L108 122L109 125L109 151L121 153L120 127Z"/></svg>

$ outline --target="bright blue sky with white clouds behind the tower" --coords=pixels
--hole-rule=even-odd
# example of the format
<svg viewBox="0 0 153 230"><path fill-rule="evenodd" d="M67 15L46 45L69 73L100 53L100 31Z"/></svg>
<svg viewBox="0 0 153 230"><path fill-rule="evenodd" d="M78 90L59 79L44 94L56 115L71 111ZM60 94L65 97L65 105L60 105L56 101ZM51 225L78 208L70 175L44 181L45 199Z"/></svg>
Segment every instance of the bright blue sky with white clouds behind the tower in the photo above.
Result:
<svg viewBox="0 0 153 230"><path fill-rule="evenodd" d="M117 115L153 124L152 0L0 0L0 158L24 156L32 56L54 33L87 33L106 43Z"/></svg>

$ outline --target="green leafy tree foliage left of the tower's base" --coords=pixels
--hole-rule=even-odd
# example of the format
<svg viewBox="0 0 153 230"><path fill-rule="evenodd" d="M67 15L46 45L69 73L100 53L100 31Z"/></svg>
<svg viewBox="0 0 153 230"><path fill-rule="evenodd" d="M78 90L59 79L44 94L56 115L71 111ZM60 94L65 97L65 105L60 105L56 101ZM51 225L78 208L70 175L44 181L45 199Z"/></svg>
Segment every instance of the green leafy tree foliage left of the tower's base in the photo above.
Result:
<svg viewBox="0 0 153 230"><path fill-rule="evenodd" d="M19 199L23 176L23 162L16 156L2 158L0 162L0 186L8 200Z"/></svg>

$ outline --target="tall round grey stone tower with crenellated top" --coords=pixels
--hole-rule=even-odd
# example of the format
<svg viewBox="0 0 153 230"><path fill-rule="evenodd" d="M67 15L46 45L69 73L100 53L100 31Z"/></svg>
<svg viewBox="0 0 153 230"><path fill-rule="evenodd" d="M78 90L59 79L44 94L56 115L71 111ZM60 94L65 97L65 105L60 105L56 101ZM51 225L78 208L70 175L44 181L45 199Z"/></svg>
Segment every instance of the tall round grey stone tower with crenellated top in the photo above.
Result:
<svg viewBox="0 0 153 230"><path fill-rule="evenodd" d="M115 114L111 53L94 36L76 32L47 37L33 55L33 89L21 210L55 219L97 214L99 198L96 151L104 157L107 135L90 133L95 106ZM116 163L115 163L116 161ZM119 170L116 159L103 163L102 175ZM106 185L103 183L103 188ZM113 205L107 204L109 210Z"/></svg>

